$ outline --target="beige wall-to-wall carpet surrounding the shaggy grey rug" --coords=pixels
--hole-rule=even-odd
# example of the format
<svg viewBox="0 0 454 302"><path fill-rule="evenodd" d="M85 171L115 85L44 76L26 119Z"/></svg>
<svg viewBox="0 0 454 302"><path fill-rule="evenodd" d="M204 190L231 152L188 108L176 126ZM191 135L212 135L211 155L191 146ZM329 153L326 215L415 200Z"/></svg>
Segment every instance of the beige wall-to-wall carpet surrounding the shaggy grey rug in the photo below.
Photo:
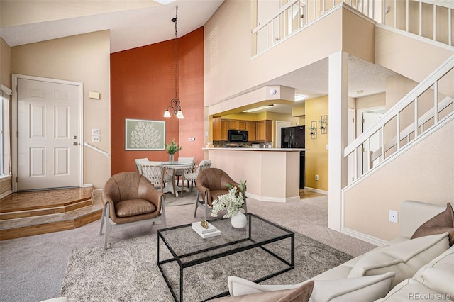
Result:
<svg viewBox="0 0 454 302"><path fill-rule="evenodd" d="M248 210L352 256L375 247L327 228L328 196L289 203L248 198ZM194 204L166 208L169 227L199 221L203 215L199 209L194 218ZM59 296L72 250L104 245L99 226L100 220L74 230L0 241L0 301L41 301ZM114 230L109 242L118 244L123 240L153 235L156 229L157 224L153 227L142 224Z"/></svg>

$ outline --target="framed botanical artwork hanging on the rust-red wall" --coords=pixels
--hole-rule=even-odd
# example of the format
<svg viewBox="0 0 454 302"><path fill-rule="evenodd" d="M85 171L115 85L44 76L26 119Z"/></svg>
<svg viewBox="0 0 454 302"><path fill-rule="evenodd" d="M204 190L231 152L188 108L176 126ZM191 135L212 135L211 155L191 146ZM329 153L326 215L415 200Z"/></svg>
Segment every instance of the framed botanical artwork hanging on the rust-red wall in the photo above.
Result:
<svg viewBox="0 0 454 302"><path fill-rule="evenodd" d="M165 121L126 118L125 150L165 150Z"/></svg>

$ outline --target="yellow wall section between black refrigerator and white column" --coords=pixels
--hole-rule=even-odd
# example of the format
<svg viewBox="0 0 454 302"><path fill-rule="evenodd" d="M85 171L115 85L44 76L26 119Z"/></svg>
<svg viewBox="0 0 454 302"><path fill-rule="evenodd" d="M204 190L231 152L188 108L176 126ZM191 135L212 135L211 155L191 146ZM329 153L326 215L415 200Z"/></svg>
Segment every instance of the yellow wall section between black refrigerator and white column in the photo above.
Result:
<svg viewBox="0 0 454 302"><path fill-rule="evenodd" d="M313 189L328 191L328 133L320 133L319 120L321 116L328 114L328 96L321 96L316 99L306 100L306 129L311 125L311 121L317 122L317 138L312 139L309 130L306 130L306 184L305 186ZM319 180L315 180L315 175L319 175Z"/></svg>

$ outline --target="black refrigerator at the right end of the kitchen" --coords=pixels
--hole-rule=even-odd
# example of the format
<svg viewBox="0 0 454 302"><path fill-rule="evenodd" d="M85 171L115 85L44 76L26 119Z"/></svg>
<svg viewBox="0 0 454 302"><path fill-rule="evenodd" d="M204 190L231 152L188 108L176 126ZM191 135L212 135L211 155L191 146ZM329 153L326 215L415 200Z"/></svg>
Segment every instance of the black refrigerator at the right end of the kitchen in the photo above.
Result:
<svg viewBox="0 0 454 302"><path fill-rule="evenodd" d="M281 129L282 148L306 147L305 126L285 127ZM299 189L304 189L304 151L299 156Z"/></svg>

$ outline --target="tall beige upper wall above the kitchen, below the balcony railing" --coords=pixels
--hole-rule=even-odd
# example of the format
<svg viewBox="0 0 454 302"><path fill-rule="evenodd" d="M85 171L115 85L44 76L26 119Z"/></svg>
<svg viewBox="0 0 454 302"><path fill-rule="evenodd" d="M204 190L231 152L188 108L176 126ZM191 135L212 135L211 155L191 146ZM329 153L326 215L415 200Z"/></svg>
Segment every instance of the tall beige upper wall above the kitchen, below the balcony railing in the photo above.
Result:
<svg viewBox="0 0 454 302"><path fill-rule="evenodd" d="M259 100L231 98L341 50L342 9L251 59L250 14L249 1L227 0L204 26L206 106L223 101L228 110L253 104ZM320 33L326 37L320 39ZM301 47L313 44L318 47Z"/></svg>

